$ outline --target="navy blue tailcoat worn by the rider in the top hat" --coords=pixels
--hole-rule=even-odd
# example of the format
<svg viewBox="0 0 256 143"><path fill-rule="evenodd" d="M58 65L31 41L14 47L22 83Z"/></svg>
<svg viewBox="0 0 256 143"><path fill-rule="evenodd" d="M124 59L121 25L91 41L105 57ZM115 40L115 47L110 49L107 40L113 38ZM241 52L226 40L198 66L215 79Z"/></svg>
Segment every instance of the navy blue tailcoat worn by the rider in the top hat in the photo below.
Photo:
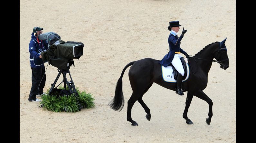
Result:
<svg viewBox="0 0 256 143"><path fill-rule="evenodd" d="M180 41L182 38L183 38L183 35L178 37L170 33L168 38L170 51L164 56L162 60L160 60L159 64L163 65L164 67L169 66L173 60L175 52L181 52L183 54L186 54L186 52L180 48Z"/></svg>

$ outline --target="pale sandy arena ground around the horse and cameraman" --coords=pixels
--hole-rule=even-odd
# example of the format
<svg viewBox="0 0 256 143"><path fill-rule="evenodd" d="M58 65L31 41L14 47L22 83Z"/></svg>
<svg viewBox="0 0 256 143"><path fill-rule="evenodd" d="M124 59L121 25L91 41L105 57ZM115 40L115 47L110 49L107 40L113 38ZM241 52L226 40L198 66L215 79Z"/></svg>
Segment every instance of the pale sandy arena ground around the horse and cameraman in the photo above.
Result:
<svg viewBox="0 0 256 143"><path fill-rule="evenodd" d="M232 0L21 0L20 142L236 142L235 7ZM127 101L132 94L130 67L123 76L123 110L114 111L107 104L129 62L161 60L168 52L167 26L174 20L179 20L180 28L187 29L181 47L190 55L227 37L229 68L223 70L213 63L204 90L213 101L212 122L205 123L208 104L194 97L188 110L194 124L187 125L182 117L187 92L178 96L154 83L143 96L151 110L151 120L147 121L144 109L136 102L132 118L138 126L131 126L126 120ZM43 32L57 33L63 41L84 43L84 54L80 61L74 60L75 67L70 72L76 87L93 94L96 107L76 113L54 113L37 108L39 103L28 102L28 44L36 26L44 28ZM44 91L51 87L57 74L56 67L48 66Z"/></svg>

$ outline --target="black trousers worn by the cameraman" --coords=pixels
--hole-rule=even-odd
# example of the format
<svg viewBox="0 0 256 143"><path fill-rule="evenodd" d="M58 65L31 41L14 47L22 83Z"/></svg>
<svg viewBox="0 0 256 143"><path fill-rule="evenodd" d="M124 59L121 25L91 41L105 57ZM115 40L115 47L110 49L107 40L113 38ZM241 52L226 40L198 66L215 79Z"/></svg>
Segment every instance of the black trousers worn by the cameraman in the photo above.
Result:
<svg viewBox="0 0 256 143"><path fill-rule="evenodd" d="M29 98L28 98L28 100L30 100L30 101L35 100L36 95L43 94L43 88L44 88L45 80L46 80L46 75L44 74L44 68L32 68L31 67L31 69L32 69L32 86L31 86L31 90L30 90ZM39 86L39 84L40 84L40 86ZM39 89L38 89L38 87L39 87Z"/></svg>

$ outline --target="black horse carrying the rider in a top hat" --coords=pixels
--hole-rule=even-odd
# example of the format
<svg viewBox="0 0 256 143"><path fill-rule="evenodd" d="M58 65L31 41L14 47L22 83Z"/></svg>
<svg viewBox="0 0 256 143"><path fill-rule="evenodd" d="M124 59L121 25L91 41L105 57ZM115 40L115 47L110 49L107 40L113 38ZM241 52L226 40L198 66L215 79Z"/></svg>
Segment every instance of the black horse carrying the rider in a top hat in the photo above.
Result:
<svg viewBox="0 0 256 143"><path fill-rule="evenodd" d="M193 124L193 122L187 117L188 108L190 106L193 96L203 99L209 104L209 117L206 118L206 123L208 125L210 125L211 123L211 119L213 116L213 102L203 92L203 90L207 86L208 72L213 62L218 62L221 65L220 68L223 69L227 69L229 67L227 49L225 46L226 39L224 39L222 42L215 42L209 44L205 46L205 48L203 48L200 52L195 54L194 57L190 56L188 58L188 63L192 70L190 70L190 76L188 80L182 83L182 89L188 91L186 106L183 113L183 118L186 119L187 124ZM216 60L213 60L213 58L215 58ZM145 112L147 113L147 120L149 121L151 118L150 109L144 103L142 97L152 86L153 83L157 83L167 89L175 91L175 83L169 83L163 80L161 65L158 62L159 60L150 58L130 62L124 67L121 76L117 82L115 97L112 103L109 104L109 106L114 110L121 111L124 106L122 77L126 68L131 66L128 75L132 88L132 95L128 100L127 121L131 122L133 126L138 125L134 120L132 120L131 117L131 109L137 100L140 105L145 109Z"/></svg>

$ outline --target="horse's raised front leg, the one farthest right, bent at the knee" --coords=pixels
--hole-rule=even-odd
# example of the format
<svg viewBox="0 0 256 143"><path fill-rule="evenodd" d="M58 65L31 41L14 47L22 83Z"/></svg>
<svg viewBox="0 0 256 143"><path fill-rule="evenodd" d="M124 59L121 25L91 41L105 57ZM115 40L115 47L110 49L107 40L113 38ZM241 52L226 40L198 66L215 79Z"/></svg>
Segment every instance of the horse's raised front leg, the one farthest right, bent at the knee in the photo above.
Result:
<svg viewBox="0 0 256 143"><path fill-rule="evenodd" d="M213 116L213 101L212 99L210 99L203 91L199 90L195 93L196 97L203 99L204 101L206 101L209 104L209 112L208 112L208 118L206 118L206 123L208 125L210 125L211 121L212 121L212 116Z"/></svg>

